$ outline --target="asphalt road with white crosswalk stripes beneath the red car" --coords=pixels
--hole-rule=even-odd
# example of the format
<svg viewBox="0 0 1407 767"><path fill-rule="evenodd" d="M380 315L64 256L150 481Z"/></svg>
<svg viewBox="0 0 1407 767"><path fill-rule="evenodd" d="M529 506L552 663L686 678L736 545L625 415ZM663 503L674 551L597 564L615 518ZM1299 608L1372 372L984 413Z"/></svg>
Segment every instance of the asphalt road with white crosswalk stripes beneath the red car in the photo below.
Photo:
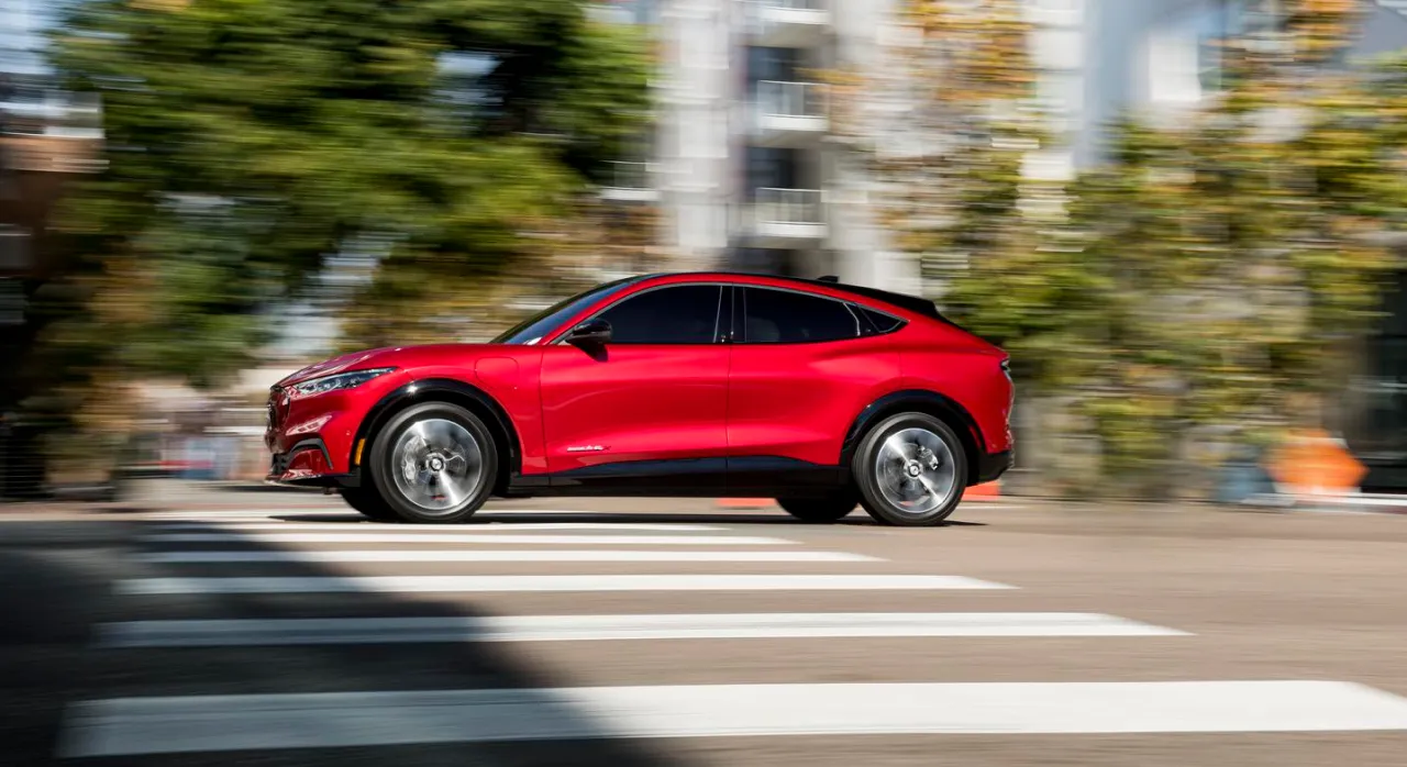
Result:
<svg viewBox="0 0 1407 767"><path fill-rule="evenodd" d="M1407 753L1407 516L1002 502L908 531L559 501L407 528L242 501L0 511L0 763Z"/></svg>

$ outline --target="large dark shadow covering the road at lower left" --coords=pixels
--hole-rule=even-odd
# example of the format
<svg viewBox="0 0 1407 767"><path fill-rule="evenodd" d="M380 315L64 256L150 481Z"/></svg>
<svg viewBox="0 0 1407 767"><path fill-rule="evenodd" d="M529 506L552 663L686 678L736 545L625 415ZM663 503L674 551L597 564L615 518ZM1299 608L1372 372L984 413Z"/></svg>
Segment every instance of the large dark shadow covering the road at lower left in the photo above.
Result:
<svg viewBox="0 0 1407 767"><path fill-rule="evenodd" d="M20 524L15 524L20 525ZM106 524L103 524L106 525ZM348 746L362 737L360 730L394 740L401 728L425 732L426 725L412 721L415 709L376 711L360 725L352 718L305 719L311 735L322 737L317 747L257 749L169 754L90 753L103 767L176 767L201 764L224 767L259 764L262 767L463 767L466 764L536 767L636 767L677 766L678 759L664 753L658 742L612 739L590 712L556 699L552 688L573 687L570 670L543 668L526 660L515 646L483 642L377 643L377 645L297 645L297 646L111 646L113 635L103 625L131 621L191 619L290 619L290 618L467 618L474 625L484 611L464 600L432 600L411 594L366 592L350 590L324 592L191 592L124 594L114 597L120 581L144 578L183 578L198 584L208 577L317 577L345 578L322 566L304 562L257 564L169 564L146 563L132 557L134 549L152 549L136 543L151 532L149 522L120 522L121 536L103 546L62 545L18 549L0 545L0 576L7 587L0 590L0 609L7 621L0 625L0 742L6 760L13 764L68 764L58 754L70 756L111 747L136 746L159 749L159 742L131 737L117 740L84 739L93 730L75 728L72 718L80 701L190 695L250 695L294 692L374 692L374 691L449 691L515 690L521 714L502 721L526 718L552 722L547 729L566 730L570 739L516 742L440 742L377 746ZM229 531L222 547L269 550L259 540ZM471 633L471 632L470 632ZM522 699L526 698L526 702ZM187 704L189 705L189 704ZM182 711L180 704L177 711ZM473 718L474 711L464 716ZM11 716L13 715L13 716ZM151 715L148 715L151 716ZM294 715L295 716L295 715ZM492 716L481 714L483 716ZM400 718L407 718L398 723ZM453 740L453 723L440 716L439 733ZM519 719L521 721L521 719ZM221 718L221 730L257 744L267 742L265 732L242 732L238 719ZM148 722L149 723L149 722ZM478 722L480 732L484 722ZM144 726L142 718L125 726ZM194 730L208 725L197 723ZM273 728L279 729L279 728ZM433 728L431 728L433 729ZM464 725L464 733L473 728ZM529 728L532 729L532 728ZM193 735L194 735L193 730ZM388 735L390 733L390 735ZM467 735L466 735L467 737ZM152 739L156 740L156 739ZM314 737L317 740L317 737ZM409 740L414 740L409 739ZM343 743L343 744L339 744ZM115 750L124 750L118 747ZM91 761L91 760L89 760Z"/></svg>

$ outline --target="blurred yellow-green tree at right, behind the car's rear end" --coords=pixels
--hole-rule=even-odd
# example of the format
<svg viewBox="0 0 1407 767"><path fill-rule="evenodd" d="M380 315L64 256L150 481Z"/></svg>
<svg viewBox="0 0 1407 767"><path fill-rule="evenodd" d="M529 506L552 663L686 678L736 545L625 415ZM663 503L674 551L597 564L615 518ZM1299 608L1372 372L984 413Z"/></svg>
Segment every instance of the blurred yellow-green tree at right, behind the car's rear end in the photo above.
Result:
<svg viewBox="0 0 1407 767"><path fill-rule="evenodd" d="M857 87L841 114L922 128L908 152L861 153L879 158L882 215L927 262L930 296L1013 353L1027 400L1057 405L1059 439L1037 456L1058 459L1052 487L1166 498L1190 484L1195 443L1320 425L1407 214L1407 65L1342 66L1362 6L1258 7L1218 42L1218 90L1173 121L1112 125L1107 162L1069 184L1023 173L1050 139L1016 3L909 7L923 34L891 69L913 83L893 89L905 108L867 111L877 91Z"/></svg>

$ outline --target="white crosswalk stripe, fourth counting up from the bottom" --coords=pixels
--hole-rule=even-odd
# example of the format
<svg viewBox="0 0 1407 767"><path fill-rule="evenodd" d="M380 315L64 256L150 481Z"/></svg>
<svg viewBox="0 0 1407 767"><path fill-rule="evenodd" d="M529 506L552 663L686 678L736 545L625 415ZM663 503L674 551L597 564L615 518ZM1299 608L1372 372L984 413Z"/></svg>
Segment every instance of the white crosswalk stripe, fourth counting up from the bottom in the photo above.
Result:
<svg viewBox="0 0 1407 767"><path fill-rule="evenodd" d="M402 550L260 550L142 552L136 562L149 564L210 564L253 562L884 562L846 552L680 552L635 549L402 549Z"/></svg>

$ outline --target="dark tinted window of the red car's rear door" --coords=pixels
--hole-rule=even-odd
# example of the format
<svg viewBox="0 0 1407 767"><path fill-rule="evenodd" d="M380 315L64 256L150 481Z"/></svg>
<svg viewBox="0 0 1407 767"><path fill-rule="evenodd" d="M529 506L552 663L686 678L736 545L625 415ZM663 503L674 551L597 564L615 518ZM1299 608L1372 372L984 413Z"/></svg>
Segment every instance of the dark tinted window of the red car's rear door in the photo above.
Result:
<svg viewBox="0 0 1407 767"><path fill-rule="evenodd" d="M841 301L789 290L743 290L746 343L815 343L860 338L860 318Z"/></svg>

